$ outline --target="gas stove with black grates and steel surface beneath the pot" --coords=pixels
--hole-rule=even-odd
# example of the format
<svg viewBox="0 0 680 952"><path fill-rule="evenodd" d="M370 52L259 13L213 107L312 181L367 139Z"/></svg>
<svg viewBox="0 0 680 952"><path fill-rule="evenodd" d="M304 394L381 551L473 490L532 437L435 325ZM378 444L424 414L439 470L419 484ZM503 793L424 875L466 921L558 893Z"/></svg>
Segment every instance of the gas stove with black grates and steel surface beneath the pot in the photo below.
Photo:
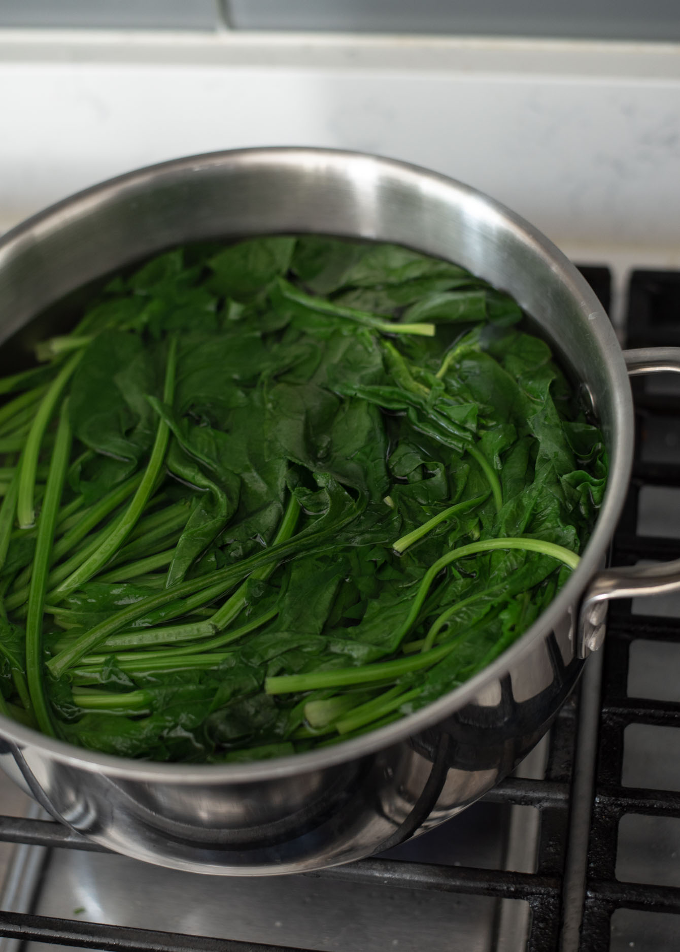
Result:
<svg viewBox="0 0 680 952"><path fill-rule="evenodd" d="M605 307L607 267L582 268ZM680 345L680 272L630 276L632 347ZM637 447L614 565L680 556L680 387L634 382ZM203 877L116 856L30 806L0 952L675 952L680 596L613 603L550 735L481 802L379 857L314 875Z"/></svg>

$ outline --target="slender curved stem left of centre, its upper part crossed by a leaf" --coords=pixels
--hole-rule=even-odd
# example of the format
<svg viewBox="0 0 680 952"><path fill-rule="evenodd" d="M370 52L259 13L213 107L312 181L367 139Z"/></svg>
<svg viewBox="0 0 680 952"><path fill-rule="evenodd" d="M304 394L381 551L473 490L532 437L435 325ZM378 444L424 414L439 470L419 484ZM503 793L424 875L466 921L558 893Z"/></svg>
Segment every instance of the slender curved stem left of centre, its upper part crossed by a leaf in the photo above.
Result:
<svg viewBox="0 0 680 952"><path fill-rule="evenodd" d="M177 339L176 337L171 337L168 347L165 387L163 390L163 399L167 404L171 404L172 394L174 392L176 353ZM165 423L164 420L159 420L155 442L151 450L149 466L147 466L142 481L139 486L137 486L137 491L130 501L130 506L128 506L125 513L125 518L121 519L117 526L112 529L97 550L92 552L90 558L76 568L61 585L58 585L57 592L59 594L66 594L72 591L73 588L77 588L78 585L83 585L83 583L91 579L93 575L96 575L100 568L109 562L111 556L128 538L150 500L151 493L156 485L156 480L161 472L161 466L163 466L169 436L170 429L168 424Z"/></svg>

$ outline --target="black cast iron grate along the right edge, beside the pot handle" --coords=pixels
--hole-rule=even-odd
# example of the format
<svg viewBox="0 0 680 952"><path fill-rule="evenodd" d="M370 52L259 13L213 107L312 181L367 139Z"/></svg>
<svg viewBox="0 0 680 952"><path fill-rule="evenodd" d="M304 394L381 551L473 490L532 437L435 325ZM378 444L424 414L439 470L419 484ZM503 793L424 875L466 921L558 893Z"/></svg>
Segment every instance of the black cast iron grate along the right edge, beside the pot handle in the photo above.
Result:
<svg viewBox="0 0 680 952"><path fill-rule="evenodd" d="M636 271L630 280L628 346L680 346L680 272ZM654 418L672 437L680 424L680 387L676 380L651 386L634 381L637 446L629 498L612 547L613 565L641 560L663 562L680 557L680 541L637 534L641 491L646 486L677 488L677 462L646 459L644 443ZM657 427L658 428L658 427ZM674 443L674 437L670 440ZM630 725L680 729L680 703L629 696L630 645L633 641L680 646L680 619L631 612L630 602L612 603L605 646L597 763L595 768L588 878L581 949L609 949L612 916L617 910L680 914L680 887L616 878L620 823L625 817L666 817L680 823L680 792L624 785L625 733ZM641 778L642 779L642 778ZM670 783L669 785L672 785ZM641 878L641 877L640 877ZM649 922L649 920L648 920ZM673 927L680 936L680 919ZM626 942L628 945L629 942ZM630 942L632 945L633 943ZM671 946L670 946L671 947Z"/></svg>

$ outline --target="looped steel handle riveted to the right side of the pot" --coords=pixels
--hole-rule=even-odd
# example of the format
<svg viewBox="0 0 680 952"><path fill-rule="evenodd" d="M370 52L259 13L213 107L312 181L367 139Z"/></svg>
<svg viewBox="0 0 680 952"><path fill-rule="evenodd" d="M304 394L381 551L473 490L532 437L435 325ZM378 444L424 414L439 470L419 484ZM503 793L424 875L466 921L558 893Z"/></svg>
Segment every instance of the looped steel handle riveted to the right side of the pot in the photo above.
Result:
<svg viewBox="0 0 680 952"><path fill-rule="evenodd" d="M680 347L640 347L624 350L630 377L644 373L680 373ZM680 559L663 565L624 565L598 572L586 589L581 604L576 645L579 658L596 651L605 637L610 599L662 595L680 591Z"/></svg>

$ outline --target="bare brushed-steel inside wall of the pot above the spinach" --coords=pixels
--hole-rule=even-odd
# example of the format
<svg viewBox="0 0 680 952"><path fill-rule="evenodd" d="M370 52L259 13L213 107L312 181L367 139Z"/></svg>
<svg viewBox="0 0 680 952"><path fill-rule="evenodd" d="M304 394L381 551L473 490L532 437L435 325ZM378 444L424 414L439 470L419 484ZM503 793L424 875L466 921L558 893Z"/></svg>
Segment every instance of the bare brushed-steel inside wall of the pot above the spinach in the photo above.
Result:
<svg viewBox="0 0 680 952"><path fill-rule="evenodd" d="M180 244L285 233L392 242L468 268L510 293L588 388L610 453L605 503L570 582L491 665L489 677L497 677L541 625L550 630L559 621L600 566L632 456L630 385L607 315L564 255L508 209L423 169L317 149L224 152L132 172L48 209L0 241L2 370L20 369L48 325L51 332L68 327L111 272ZM430 720L441 716L443 703L453 709L454 695L462 706L475 689L479 684L463 685L430 705ZM394 725L394 733L408 734L409 721Z"/></svg>

